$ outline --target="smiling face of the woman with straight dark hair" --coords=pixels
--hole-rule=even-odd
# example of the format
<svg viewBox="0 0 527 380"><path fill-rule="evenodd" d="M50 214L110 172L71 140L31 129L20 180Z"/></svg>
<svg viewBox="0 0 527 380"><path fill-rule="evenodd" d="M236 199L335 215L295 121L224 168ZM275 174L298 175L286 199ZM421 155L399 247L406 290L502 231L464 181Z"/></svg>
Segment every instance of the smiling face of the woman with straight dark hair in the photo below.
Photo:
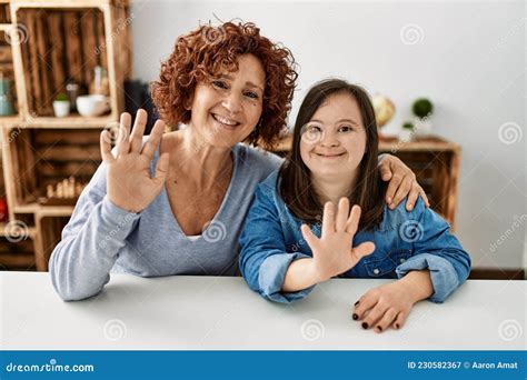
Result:
<svg viewBox="0 0 527 380"><path fill-rule="evenodd" d="M367 138L357 100L351 94L331 94L301 133L300 156L314 178L354 183Z"/></svg>

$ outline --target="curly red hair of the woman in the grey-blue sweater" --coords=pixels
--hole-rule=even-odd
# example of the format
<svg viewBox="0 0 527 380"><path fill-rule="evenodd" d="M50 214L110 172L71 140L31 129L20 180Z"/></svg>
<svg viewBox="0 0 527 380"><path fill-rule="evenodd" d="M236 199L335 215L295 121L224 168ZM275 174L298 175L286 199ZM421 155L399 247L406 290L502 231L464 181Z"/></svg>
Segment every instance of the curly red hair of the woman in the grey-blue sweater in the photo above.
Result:
<svg viewBox="0 0 527 380"><path fill-rule="evenodd" d="M159 80L151 86L160 117L172 127L189 122L197 83L225 70L238 70L238 57L246 53L256 56L266 71L260 121L246 142L271 149L287 124L298 73L290 50L260 36L251 22L202 26L177 39L172 53L161 63Z"/></svg>

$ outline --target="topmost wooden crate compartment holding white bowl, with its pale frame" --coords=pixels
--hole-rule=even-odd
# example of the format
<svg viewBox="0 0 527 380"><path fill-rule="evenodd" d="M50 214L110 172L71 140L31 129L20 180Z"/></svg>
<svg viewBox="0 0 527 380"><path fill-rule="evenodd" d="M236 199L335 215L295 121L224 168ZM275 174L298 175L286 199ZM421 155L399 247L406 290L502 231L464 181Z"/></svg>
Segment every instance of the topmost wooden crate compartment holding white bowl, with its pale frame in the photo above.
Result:
<svg viewBox="0 0 527 380"><path fill-rule="evenodd" d="M23 1L11 4L13 23L27 38L13 49L20 113L42 127L103 127L125 109L125 81L132 74L129 2L121 0ZM60 38L57 38L60 36ZM101 118L72 113L73 120L54 118L52 101L66 92L67 81L89 93L93 69L107 70L110 111ZM44 119L40 119L44 118ZM71 126L73 127L73 126Z"/></svg>

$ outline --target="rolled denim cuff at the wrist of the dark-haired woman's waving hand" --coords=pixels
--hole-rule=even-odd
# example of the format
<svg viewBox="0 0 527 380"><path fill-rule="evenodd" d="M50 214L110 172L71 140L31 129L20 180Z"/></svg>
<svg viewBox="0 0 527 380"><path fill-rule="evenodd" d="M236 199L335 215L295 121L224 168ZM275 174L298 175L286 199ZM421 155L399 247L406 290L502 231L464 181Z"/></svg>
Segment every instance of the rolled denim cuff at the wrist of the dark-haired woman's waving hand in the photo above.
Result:
<svg viewBox="0 0 527 380"><path fill-rule="evenodd" d="M307 297L315 288L315 286L290 293L281 291L281 287L284 286L284 280L286 279L286 272L289 268L289 264L294 260L301 258L310 257L302 253L281 253L272 254L266 260L264 260L258 274L260 294L271 301L280 303L290 303Z"/></svg>

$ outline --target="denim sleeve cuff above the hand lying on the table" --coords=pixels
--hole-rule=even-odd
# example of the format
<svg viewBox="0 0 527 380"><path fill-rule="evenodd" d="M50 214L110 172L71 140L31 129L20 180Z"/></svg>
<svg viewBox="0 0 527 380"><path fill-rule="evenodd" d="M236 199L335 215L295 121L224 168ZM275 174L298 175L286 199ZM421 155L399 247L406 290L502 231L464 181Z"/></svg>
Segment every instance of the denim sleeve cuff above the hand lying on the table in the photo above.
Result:
<svg viewBox="0 0 527 380"><path fill-rule="evenodd" d="M459 287L459 280L454 266L447 259L436 254L417 254L398 266L396 273L400 279L409 271L425 269L429 270L431 284L434 287L434 294L429 297L430 301L441 303Z"/></svg>

